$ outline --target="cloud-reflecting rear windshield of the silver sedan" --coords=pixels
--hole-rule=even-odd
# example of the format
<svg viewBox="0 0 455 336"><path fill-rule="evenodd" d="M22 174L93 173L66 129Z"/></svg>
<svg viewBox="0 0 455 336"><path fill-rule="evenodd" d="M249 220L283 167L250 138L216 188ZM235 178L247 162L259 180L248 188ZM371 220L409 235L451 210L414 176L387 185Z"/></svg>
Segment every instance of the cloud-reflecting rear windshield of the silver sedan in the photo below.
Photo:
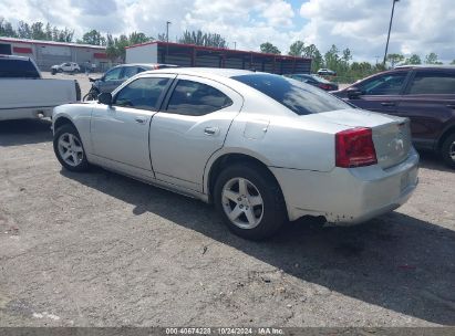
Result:
<svg viewBox="0 0 455 336"><path fill-rule="evenodd" d="M283 76L251 74L231 78L260 91L298 115L352 108L320 88Z"/></svg>

